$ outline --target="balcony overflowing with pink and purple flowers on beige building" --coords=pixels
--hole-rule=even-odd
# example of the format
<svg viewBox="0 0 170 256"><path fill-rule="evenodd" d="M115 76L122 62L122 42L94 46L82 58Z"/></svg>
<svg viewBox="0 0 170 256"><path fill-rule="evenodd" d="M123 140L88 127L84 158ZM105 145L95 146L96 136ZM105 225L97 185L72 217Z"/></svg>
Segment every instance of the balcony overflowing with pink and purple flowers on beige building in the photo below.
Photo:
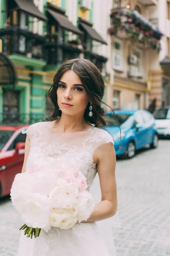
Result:
<svg viewBox="0 0 170 256"><path fill-rule="evenodd" d="M111 10L111 28L108 29L110 35L117 35L120 38L129 38L139 42L144 47L160 51L160 39L163 36L161 31L149 20L127 8L117 8Z"/></svg>

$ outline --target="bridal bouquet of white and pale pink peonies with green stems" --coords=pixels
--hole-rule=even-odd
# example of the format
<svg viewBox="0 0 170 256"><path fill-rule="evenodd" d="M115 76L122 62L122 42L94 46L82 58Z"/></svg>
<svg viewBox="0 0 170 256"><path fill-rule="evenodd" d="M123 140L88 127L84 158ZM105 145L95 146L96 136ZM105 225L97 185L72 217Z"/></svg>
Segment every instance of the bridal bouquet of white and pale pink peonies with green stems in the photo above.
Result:
<svg viewBox="0 0 170 256"><path fill-rule="evenodd" d="M36 161L15 176L11 187L12 204L25 223L20 230L31 239L39 236L41 229L69 229L87 220L94 209L84 175L64 163L55 166Z"/></svg>

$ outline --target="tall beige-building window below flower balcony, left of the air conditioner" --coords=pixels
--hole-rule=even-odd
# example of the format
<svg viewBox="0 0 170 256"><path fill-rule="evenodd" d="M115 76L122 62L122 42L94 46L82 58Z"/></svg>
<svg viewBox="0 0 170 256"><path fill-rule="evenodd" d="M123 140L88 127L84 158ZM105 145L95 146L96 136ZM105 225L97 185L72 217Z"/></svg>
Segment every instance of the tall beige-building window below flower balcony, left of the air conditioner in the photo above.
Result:
<svg viewBox="0 0 170 256"><path fill-rule="evenodd" d="M123 70L123 56L122 56L122 42L114 40L113 47L113 69L122 71Z"/></svg>

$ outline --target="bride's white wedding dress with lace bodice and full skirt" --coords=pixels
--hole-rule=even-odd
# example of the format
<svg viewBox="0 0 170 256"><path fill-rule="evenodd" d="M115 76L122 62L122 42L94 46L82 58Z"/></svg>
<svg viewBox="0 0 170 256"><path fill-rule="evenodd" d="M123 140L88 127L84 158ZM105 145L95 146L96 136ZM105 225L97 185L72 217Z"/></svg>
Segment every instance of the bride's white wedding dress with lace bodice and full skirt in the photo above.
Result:
<svg viewBox="0 0 170 256"><path fill-rule="evenodd" d="M54 162L54 165L64 160L81 170L87 179L89 191L97 173L93 162L94 150L103 143L113 143L112 137L107 131L94 126L72 134L57 135L52 131L52 125L51 122L39 122L23 131L31 139L26 171L29 164L37 159ZM97 198L99 193L98 186L98 189L94 189L95 203L100 201ZM118 216L75 224L68 230L56 227L48 233L42 230L36 239L27 238L22 230L16 256L116 256L112 234L112 227L116 226L119 227Z"/></svg>

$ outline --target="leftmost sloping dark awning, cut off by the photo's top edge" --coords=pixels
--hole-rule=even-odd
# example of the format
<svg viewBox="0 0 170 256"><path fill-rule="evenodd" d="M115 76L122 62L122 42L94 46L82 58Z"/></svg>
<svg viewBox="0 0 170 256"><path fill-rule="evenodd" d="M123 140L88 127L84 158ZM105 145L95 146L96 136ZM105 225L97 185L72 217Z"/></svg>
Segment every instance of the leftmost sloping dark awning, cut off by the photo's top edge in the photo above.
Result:
<svg viewBox="0 0 170 256"><path fill-rule="evenodd" d="M31 16L34 16L40 20L47 21L47 17L43 15L40 10L37 8L37 6L34 5L33 0L14 0L15 3L17 4L18 8L30 14Z"/></svg>

